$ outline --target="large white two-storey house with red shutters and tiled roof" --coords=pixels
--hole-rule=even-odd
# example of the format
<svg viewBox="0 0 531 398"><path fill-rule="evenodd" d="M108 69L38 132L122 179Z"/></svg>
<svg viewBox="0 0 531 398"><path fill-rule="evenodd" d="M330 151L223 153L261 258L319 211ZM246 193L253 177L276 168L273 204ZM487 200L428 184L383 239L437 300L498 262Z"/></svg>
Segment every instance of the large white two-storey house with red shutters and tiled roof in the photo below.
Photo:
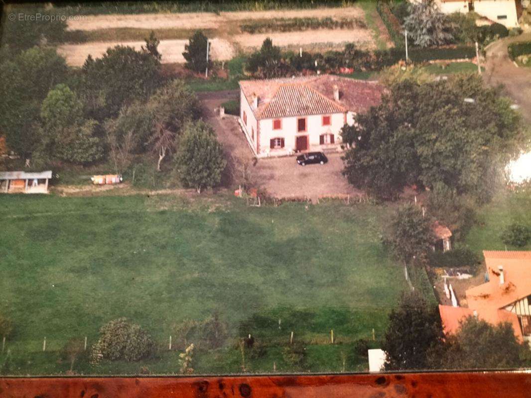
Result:
<svg viewBox="0 0 531 398"><path fill-rule="evenodd" d="M341 127L381 101L378 82L332 75L246 80L240 123L257 157L337 150Z"/></svg>

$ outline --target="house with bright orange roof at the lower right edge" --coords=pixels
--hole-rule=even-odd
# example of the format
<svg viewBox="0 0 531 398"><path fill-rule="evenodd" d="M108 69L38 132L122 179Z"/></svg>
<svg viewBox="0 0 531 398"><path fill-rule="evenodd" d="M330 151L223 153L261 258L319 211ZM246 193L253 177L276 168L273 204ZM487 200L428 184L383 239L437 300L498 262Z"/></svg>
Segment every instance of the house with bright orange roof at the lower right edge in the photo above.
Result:
<svg viewBox="0 0 531 398"><path fill-rule="evenodd" d="M519 341L531 343L531 252L483 252L488 282L466 291L466 307L439 306L444 333L455 333L468 316L509 322Z"/></svg>

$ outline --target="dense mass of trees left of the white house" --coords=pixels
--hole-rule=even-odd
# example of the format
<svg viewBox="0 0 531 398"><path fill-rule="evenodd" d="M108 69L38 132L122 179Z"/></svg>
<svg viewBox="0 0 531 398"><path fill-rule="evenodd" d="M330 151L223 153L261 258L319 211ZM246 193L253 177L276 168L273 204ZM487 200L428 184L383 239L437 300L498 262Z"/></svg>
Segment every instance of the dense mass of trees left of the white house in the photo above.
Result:
<svg viewBox="0 0 531 398"><path fill-rule="evenodd" d="M201 192L219 183L225 160L212 129L201 122L195 94L160 71L157 38L140 51L109 48L72 70L55 49L20 53L3 47L0 132L31 166L110 162L118 174L134 157L153 153L156 168L173 155L183 185Z"/></svg>

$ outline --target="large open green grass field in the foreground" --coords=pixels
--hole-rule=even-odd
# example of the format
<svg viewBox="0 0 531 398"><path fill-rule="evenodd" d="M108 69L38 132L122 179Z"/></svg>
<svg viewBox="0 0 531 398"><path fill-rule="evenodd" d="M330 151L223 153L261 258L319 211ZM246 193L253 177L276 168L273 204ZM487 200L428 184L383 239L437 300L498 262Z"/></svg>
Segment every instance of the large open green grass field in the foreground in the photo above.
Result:
<svg viewBox="0 0 531 398"><path fill-rule="evenodd" d="M291 331L307 344L298 370L341 371L345 352L346 370L363 369L354 341L372 339L372 328L381 338L406 288L380 243L388 213L369 204L247 207L222 195L2 195L0 311L14 330L0 371L64 373L68 340L87 336L90 347L103 324L125 316L155 338L156 356L97 367L82 356L74 371L177 373L178 352L167 350L172 325L216 310L230 338L196 353L196 373L238 373L238 337L280 344ZM255 322L264 316L281 318L281 327ZM296 370L282 361L280 345L247 362L248 371L272 371L273 362Z"/></svg>

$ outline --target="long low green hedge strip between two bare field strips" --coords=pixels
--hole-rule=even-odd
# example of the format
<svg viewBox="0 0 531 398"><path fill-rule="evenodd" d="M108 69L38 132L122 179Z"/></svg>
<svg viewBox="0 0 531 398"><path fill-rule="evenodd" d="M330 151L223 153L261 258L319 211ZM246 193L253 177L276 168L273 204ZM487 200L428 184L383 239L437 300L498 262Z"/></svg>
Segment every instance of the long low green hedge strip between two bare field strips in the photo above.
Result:
<svg viewBox="0 0 531 398"><path fill-rule="evenodd" d="M264 21L253 21L240 25L242 32L291 32L310 29L347 29L366 28L366 23L359 18L274 18Z"/></svg>

